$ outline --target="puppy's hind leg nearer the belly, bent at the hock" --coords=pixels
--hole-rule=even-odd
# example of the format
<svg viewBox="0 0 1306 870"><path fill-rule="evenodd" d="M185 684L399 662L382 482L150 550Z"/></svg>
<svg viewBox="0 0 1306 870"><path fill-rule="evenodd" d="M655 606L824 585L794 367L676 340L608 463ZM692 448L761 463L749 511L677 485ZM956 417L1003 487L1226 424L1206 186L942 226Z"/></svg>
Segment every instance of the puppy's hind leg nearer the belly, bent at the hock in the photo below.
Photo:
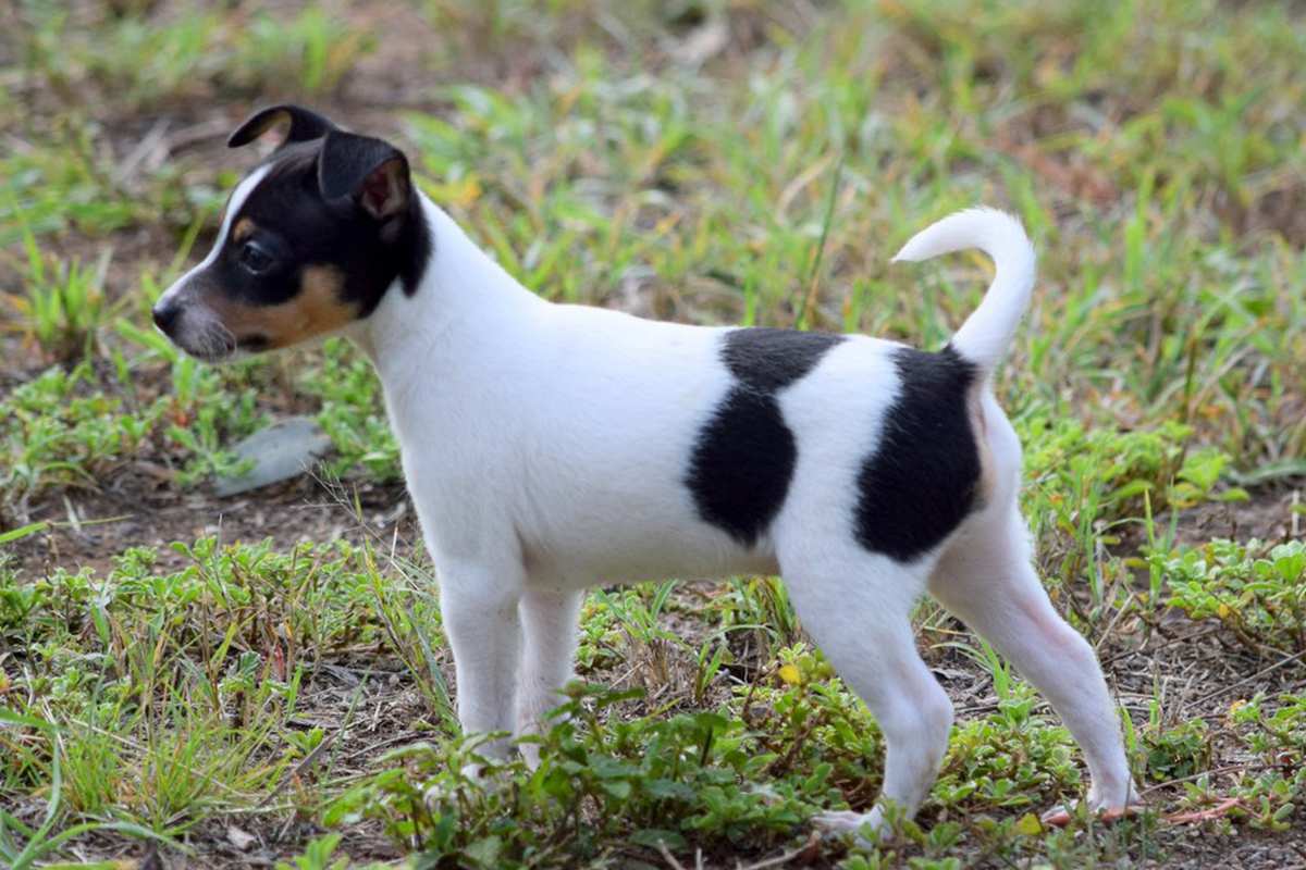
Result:
<svg viewBox="0 0 1306 870"><path fill-rule="evenodd" d="M923 571L852 545L838 549L781 553L781 571L803 627L880 727L884 788L871 813L829 813L818 823L836 831L870 824L880 832L887 802L910 817L929 794L948 746L952 702L912 634Z"/></svg>

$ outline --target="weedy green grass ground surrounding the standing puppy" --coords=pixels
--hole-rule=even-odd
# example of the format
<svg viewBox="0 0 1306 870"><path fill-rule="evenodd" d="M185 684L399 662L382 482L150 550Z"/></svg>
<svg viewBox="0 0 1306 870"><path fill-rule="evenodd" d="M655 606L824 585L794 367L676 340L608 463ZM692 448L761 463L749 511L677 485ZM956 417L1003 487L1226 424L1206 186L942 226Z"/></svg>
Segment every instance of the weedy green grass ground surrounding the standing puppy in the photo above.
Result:
<svg viewBox="0 0 1306 870"><path fill-rule="evenodd" d="M291 5L20 4L0 52L0 861L1299 861L1298 12ZM253 159L222 137L278 98L404 145L535 292L665 320L938 347L987 263L889 254L952 209L1016 211L1040 282L998 391L1040 569L1105 663L1149 811L1043 828L1081 797L1074 743L923 603L959 711L939 781L879 849L810 840L874 801L882 746L763 577L596 590L541 767L462 776L477 746L366 361L328 342L212 369L149 325ZM334 445L316 480L209 494L293 413Z"/></svg>

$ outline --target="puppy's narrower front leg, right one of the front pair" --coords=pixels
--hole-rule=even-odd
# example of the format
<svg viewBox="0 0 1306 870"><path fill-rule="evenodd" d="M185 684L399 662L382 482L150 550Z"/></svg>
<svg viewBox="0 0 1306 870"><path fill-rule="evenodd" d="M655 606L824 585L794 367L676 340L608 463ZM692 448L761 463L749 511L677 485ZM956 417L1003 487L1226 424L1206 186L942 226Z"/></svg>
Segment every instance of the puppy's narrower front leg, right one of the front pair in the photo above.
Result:
<svg viewBox="0 0 1306 870"><path fill-rule="evenodd" d="M549 711L562 703L560 690L572 677L576 625L584 600L580 590L528 588L521 597L525 647L517 686L517 737L538 734L546 728ZM532 768L539 763L537 743L520 743L518 749Z"/></svg>

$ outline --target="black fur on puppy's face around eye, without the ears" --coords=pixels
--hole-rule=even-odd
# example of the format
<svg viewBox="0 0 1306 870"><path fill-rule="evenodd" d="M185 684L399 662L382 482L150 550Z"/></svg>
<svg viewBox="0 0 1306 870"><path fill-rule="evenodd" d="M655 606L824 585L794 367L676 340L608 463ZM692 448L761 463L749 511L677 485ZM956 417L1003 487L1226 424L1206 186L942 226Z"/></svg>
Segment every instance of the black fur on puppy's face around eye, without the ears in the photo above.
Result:
<svg viewBox="0 0 1306 870"><path fill-rule="evenodd" d="M240 245L232 243L212 269L234 300L278 305L299 291L302 269L332 265L345 278L342 301L357 304L358 316L367 317L396 278L405 293L417 291L431 257L431 233L415 192L393 237L355 203L324 200L317 183L320 151L321 140L278 149L268 175L232 218L232 227L242 217L255 222L255 237L282 254L278 270L247 274L238 265Z"/></svg>

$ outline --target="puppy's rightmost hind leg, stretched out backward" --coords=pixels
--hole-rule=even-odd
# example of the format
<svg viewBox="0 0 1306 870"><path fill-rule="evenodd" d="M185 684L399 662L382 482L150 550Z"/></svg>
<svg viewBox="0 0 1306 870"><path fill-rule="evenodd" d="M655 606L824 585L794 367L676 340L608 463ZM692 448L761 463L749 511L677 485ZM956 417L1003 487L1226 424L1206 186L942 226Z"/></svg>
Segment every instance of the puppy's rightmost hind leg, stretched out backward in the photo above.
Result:
<svg viewBox="0 0 1306 870"><path fill-rule="evenodd" d="M1093 648L1053 609L1012 503L977 518L930 578L930 592L1008 659L1051 703L1084 751L1094 810L1136 801L1119 721Z"/></svg>

